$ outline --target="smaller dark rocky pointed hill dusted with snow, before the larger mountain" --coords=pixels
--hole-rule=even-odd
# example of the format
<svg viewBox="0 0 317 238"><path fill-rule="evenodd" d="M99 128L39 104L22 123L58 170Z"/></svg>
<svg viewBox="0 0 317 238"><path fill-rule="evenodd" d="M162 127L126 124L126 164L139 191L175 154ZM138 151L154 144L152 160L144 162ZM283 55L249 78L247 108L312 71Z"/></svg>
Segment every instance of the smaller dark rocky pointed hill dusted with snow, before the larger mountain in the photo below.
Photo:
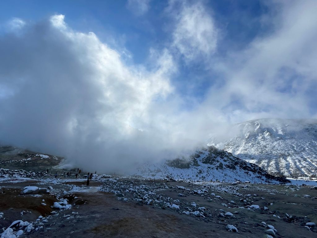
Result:
<svg viewBox="0 0 317 238"><path fill-rule="evenodd" d="M259 166L241 160L231 153L208 146L187 157L176 158L159 163L145 163L139 166L135 175L153 178L174 178L193 180L219 180L234 182L286 182L274 177Z"/></svg>

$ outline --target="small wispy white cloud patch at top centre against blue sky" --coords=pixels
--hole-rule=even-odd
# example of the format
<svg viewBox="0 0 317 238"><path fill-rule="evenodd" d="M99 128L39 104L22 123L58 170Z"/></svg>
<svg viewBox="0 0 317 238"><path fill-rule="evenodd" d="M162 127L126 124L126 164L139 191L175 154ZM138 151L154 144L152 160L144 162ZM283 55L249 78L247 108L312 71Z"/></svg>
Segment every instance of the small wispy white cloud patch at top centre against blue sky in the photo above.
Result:
<svg viewBox="0 0 317 238"><path fill-rule="evenodd" d="M215 52L218 30L201 2L182 2L180 11L173 10L171 14L176 21L172 45L187 60L208 57Z"/></svg>

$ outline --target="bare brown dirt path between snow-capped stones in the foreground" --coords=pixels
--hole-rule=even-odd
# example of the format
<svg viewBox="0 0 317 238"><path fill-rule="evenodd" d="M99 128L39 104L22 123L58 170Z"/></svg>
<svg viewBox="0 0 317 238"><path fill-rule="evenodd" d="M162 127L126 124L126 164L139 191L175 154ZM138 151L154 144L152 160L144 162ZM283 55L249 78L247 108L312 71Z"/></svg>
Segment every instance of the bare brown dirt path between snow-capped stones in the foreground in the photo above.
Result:
<svg viewBox="0 0 317 238"><path fill-rule="evenodd" d="M118 201L109 193L78 193L87 204L73 207L49 220L48 232L32 237L254 237L233 234L215 225L173 211ZM65 215L74 218L65 221ZM61 217L62 216L62 217ZM49 225L49 224L48 224ZM47 227L47 226L46 226Z"/></svg>

